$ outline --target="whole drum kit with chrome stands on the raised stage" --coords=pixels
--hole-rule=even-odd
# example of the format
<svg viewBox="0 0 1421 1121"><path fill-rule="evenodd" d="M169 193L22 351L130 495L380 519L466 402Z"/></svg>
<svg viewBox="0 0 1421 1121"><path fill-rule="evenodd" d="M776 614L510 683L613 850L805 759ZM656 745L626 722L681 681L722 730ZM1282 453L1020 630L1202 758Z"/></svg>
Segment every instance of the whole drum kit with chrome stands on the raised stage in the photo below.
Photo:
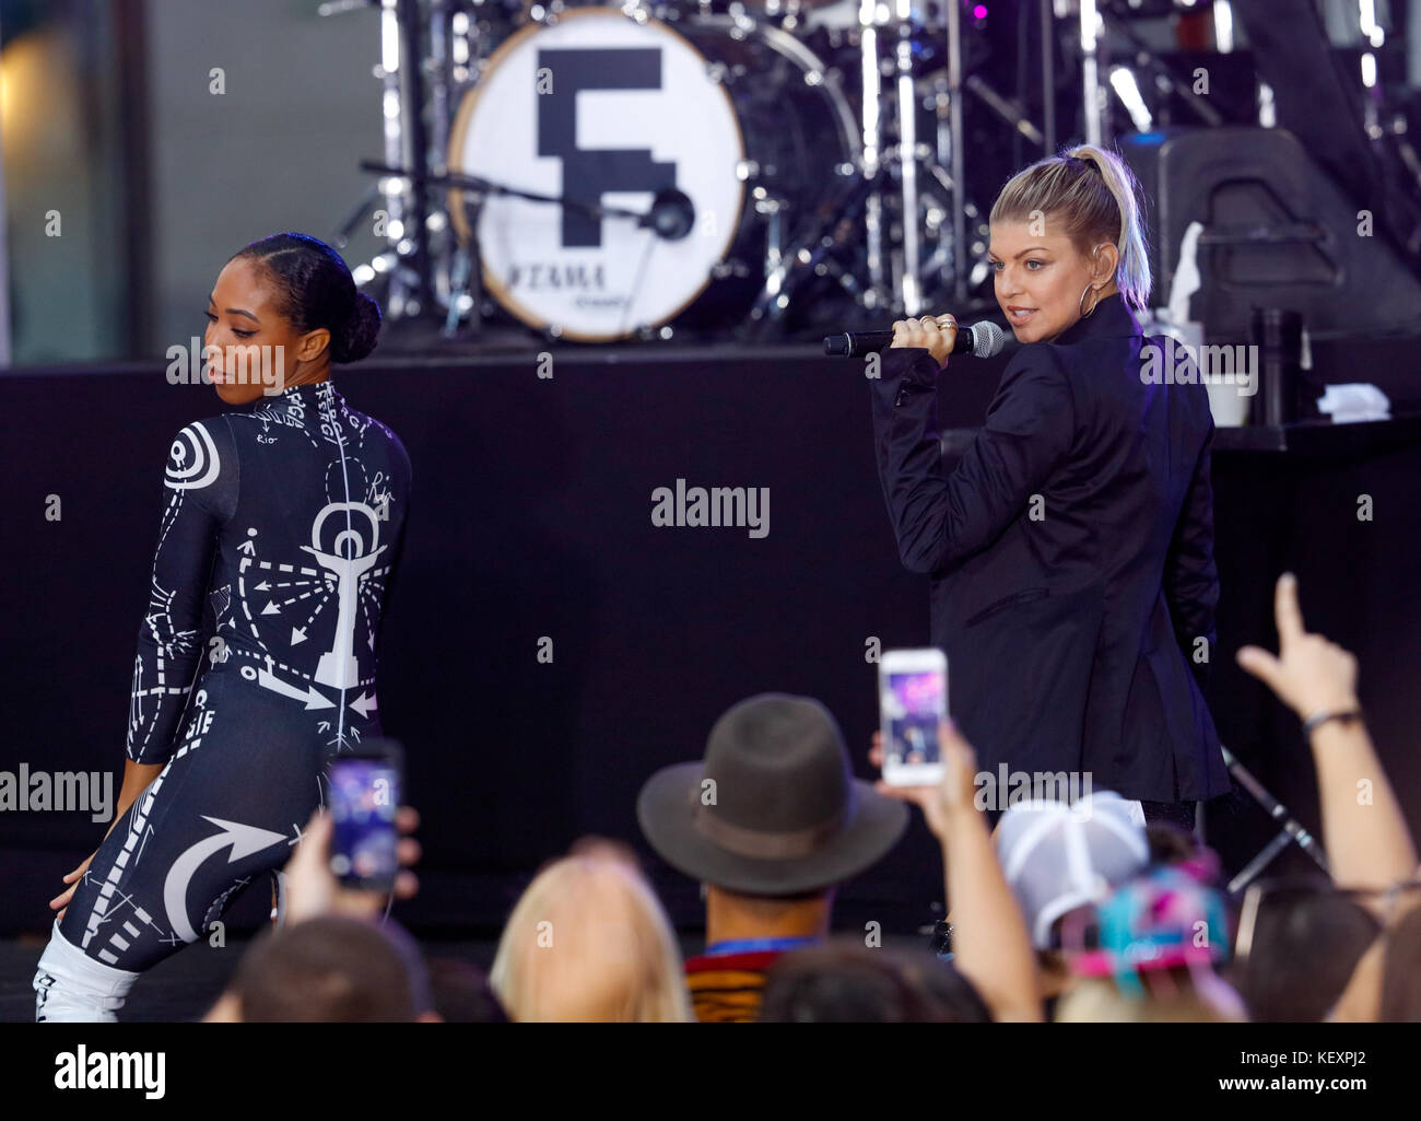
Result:
<svg viewBox="0 0 1421 1121"><path fill-rule="evenodd" d="M381 20L385 152L338 243L375 205L387 245L354 275L388 317L769 341L966 296L985 239L956 0L384 0Z"/></svg>

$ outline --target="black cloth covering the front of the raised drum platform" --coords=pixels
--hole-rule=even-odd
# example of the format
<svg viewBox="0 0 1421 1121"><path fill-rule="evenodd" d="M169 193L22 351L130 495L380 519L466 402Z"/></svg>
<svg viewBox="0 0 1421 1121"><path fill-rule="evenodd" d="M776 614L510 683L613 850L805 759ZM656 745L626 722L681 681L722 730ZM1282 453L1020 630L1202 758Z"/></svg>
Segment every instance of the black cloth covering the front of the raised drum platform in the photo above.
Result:
<svg viewBox="0 0 1421 1121"><path fill-rule="evenodd" d="M946 421L980 421L999 363L955 368ZM642 845L637 791L658 767L698 758L716 716L753 693L824 700L871 777L867 644L925 643L928 596L898 563L861 366L809 350L594 349L557 351L551 378L533 354L362 366L340 370L338 386L414 462L379 681L423 817L422 889L396 909L409 926L496 928L537 866L584 834L634 844L674 919L693 925L696 885ZM0 388L0 770L121 768L168 445L222 405L210 387L169 386L158 366L16 371ZM1374 737L1421 824L1421 448L1414 425L1367 428L1306 452L1215 454L1215 713L1225 743L1313 829L1296 720L1233 664L1238 646L1275 643L1272 582L1285 568L1299 573L1309 626L1358 654ZM676 479L767 488L767 536L652 525L652 491ZM1360 494L1370 522L1357 519ZM48 495L60 521L45 519ZM537 659L544 636L551 664ZM1272 835L1239 795L1208 824L1229 871ZM0 815L0 930L47 930L45 900L105 828L81 812ZM264 893L249 892L233 923L259 922ZM840 919L908 933L941 898L941 862L915 819L844 889Z"/></svg>

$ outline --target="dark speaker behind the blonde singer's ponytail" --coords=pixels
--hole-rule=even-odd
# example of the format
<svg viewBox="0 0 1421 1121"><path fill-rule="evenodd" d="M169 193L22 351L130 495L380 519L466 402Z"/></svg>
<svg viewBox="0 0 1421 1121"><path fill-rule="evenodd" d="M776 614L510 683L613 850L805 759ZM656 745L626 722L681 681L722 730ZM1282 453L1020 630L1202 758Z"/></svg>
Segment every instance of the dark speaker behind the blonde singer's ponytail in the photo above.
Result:
<svg viewBox="0 0 1421 1121"><path fill-rule="evenodd" d="M1208 341L1248 341L1255 307L1299 312L1314 336L1417 333L1421 283L1380 218L1347 199L1292 132L1142 132L1118 148L1145 195L1151 303L1168 300L1184 232L1204 223L1189 317Z"/></svg>

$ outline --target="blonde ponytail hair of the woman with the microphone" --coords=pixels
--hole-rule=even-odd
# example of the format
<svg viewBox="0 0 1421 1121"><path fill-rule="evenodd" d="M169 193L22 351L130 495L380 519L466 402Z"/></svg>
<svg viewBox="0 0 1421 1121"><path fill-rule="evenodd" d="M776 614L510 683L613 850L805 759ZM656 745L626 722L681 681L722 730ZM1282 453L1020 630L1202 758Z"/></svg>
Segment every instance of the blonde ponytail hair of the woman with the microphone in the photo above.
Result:
<svg viewBox="0 0 1421 1121"><path fill-rule="evenodd" d="M1144 310L1150 299L1150 250L1140 221L1140 184L1114 152L1083 144L1013 175L992 205L990 222L1027 221L1034 212L1063 222L1076 249L1113 242L1120 252L1115 286Z"/></svg>

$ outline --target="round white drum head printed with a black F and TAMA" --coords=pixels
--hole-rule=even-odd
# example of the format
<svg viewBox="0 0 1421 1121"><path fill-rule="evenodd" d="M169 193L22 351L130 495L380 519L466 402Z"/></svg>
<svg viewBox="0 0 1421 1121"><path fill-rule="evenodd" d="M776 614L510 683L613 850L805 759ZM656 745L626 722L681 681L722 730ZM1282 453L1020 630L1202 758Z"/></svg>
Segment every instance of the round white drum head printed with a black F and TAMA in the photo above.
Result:
<svg viewBox="0 0 1421 1121"><path fill-rule="evenodd" d="M745 203L740 127L708 71L669 27L614 9L526 27L495 51L459 107L450 171L638 213L675 188L695 208L691 232L664 240L631 218L486 198L483 280L510 313L605 341L674 319L705 289ZM450 192L450 215L468 238L460 192Z"/></svg>

